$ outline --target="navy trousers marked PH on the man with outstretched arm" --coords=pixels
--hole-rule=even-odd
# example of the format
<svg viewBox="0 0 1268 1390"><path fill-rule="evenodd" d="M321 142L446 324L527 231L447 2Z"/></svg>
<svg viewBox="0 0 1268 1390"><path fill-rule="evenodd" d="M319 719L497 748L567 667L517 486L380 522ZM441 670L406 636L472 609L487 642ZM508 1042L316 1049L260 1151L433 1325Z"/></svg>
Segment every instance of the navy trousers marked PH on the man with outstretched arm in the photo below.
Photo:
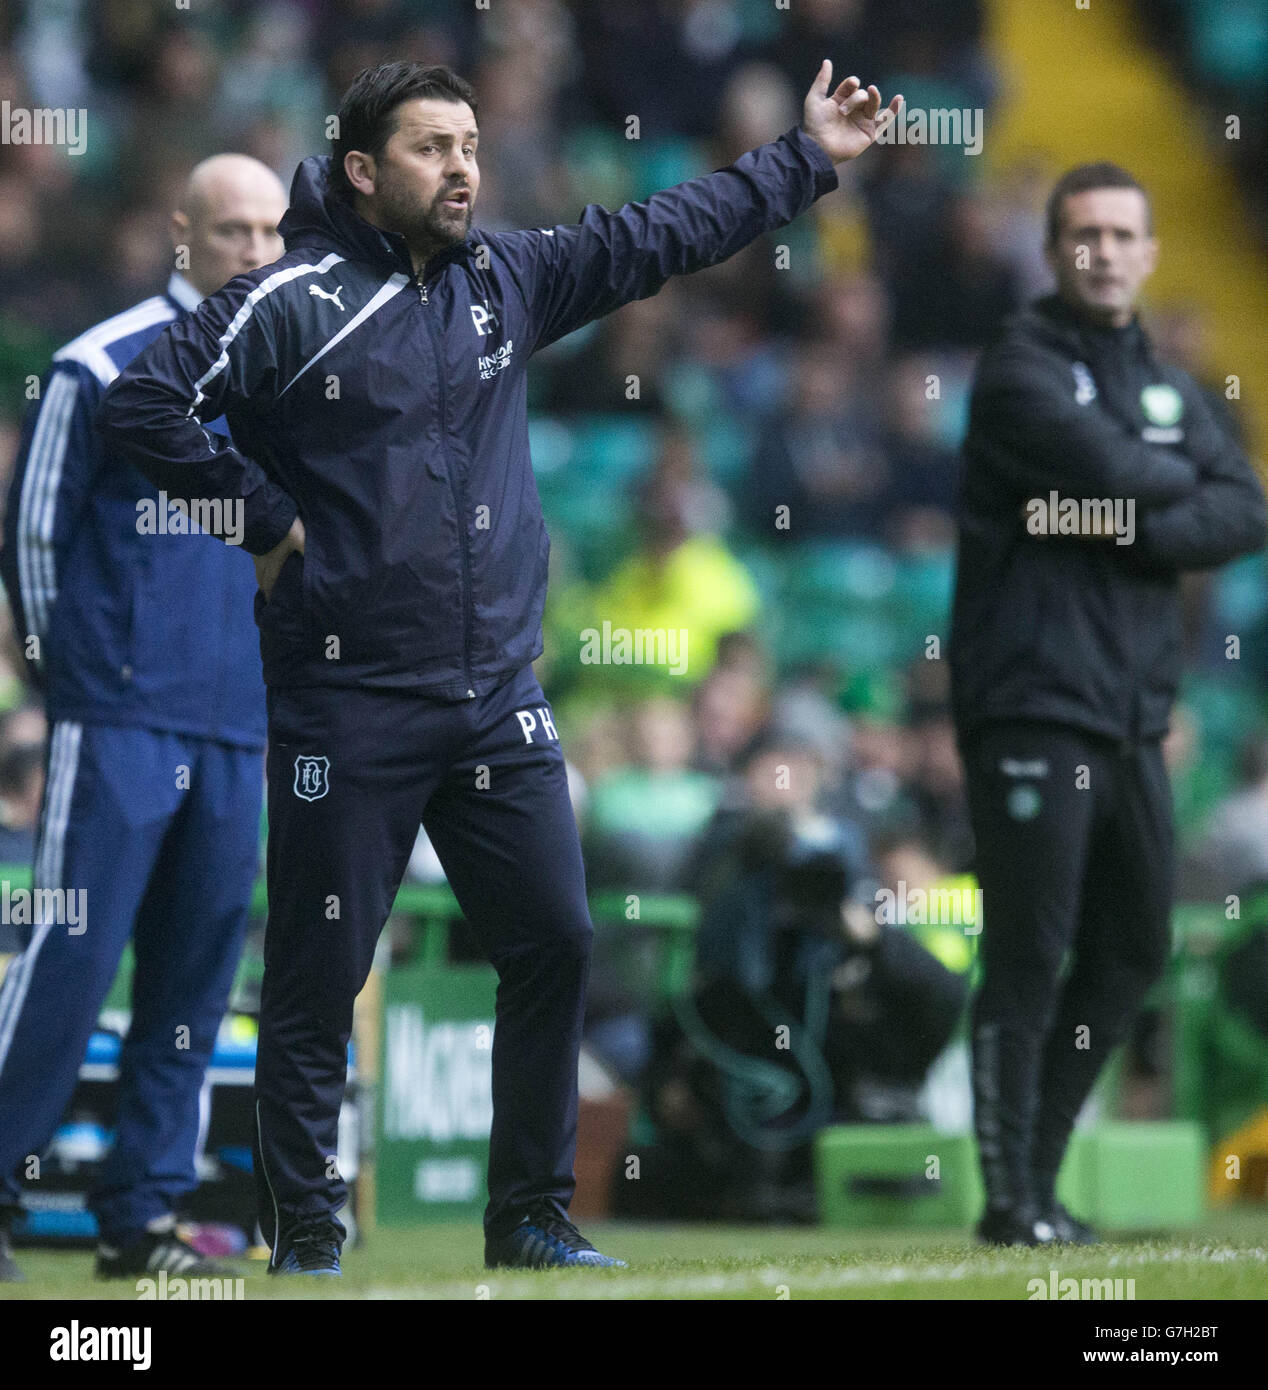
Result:
<svg viewBox="0 0 1268 1390"><path fill-rule="evenodd" d="M533 667L459 702L271 688L268 738L256 1173L274 1261L302 1226L343 1230L334 1155L353 1001L420 821L499 980L485 1229L502 1234L539 1198L566 1211L594 929Z"/></svg>

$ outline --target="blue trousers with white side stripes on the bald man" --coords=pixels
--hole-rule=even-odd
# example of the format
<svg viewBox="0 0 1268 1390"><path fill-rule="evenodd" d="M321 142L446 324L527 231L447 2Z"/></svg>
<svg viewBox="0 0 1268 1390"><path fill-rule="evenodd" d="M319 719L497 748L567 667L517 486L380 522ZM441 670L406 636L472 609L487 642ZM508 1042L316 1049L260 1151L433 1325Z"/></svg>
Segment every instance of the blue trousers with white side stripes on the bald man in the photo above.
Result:
<svg viewBox="0 0 1268 1390"><path fill-rule="evenodd" d="M101 1238L125 1244L197 1186L200 1093L242 954L263 790L260 749L54 723L33 885L75 894L83 913L26 926L0 988L0 1209L38 1176L129 938L132 1022L92 1197Z"/></svg>

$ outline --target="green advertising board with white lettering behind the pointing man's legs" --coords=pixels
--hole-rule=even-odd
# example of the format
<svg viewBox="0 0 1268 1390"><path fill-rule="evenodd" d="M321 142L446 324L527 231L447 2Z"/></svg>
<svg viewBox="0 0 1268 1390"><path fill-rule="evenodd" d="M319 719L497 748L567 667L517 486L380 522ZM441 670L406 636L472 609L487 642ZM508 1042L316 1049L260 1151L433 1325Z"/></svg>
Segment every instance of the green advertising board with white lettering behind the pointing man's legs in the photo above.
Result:
<svg viewBox="0 0 1268 1390"><path fill-rule="evenodd" d="M384 1226L478 1220L484 1211L496 988L488 966L384 976L375 1118Z"/></svg>

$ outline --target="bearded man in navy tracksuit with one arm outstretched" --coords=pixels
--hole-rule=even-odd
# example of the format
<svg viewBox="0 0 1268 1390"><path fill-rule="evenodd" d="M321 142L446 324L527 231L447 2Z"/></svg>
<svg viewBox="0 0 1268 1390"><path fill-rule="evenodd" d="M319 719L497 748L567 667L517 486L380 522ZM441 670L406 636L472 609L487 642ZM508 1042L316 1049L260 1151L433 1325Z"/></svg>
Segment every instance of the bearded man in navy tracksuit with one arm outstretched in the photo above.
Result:
<svg viewBox="0 0 1268 1390"><path fill-rule="evenodd" d="M286 254L211 296L107 395L158 486L241 502L268 687L270 919L256 1068L261 1225L338 1273L353 1001L418 823L498 970L485 1262L612 1264L567 1220L591 922L531 662L549 541L528 455L541 348L724 260L837 186L880 111L856 79L734 165L576 225L471 228L476 96L363 72L299 167ZM234 446L200 421L224 411Z"/></svg>

